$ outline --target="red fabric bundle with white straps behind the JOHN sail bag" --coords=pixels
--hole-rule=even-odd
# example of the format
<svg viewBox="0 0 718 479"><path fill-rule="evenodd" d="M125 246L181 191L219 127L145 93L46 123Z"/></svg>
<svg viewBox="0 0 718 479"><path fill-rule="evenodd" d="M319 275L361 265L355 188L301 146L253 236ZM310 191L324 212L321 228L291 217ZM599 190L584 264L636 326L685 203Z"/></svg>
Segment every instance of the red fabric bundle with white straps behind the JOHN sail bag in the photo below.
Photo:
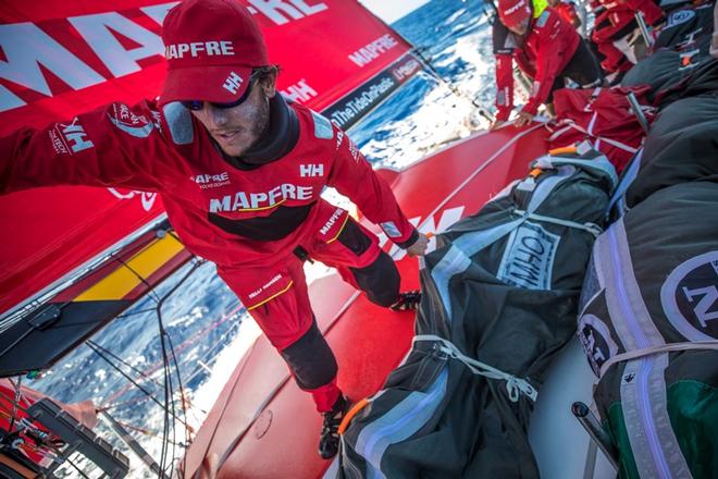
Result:
<svg viewBox="0 0 718 479"><path fill-rule="evenodd" d="M602 151L620 173L633 157L633 153L610 145L602 138L620 142L632 148L642 145L645 133L636 116L630 110L627 95L633 91L642 106L649 106L646 95L648 86L632 88L601 88L596 90L568 89L564 88L554 94L554 107L556 108L555 130L561 130L570 122L575 122L583 130L569 128L560 136L549 143L549 148L570 146L583 140L590 140L594 148ZM644 112L648 122L653 121L653 112ZM593 124L592 124L593 123Z"/></svg>

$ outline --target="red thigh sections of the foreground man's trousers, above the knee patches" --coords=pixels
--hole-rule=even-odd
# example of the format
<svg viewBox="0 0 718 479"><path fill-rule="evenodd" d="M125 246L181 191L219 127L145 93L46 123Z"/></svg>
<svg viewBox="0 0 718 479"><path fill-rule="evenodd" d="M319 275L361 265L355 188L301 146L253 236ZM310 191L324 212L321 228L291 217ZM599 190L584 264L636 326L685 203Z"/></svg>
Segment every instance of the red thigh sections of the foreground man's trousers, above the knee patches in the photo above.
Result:
<svg viewBox="0 0 718 479"><path fill-rule="evenodd" d="M357 287L349 268L364 268L380 255L377 237L357 223L372 240L364 253L357 256L336 241L346 221L354 221L342 208L320 201L319 213L309 225L312 236L301 246L309 256L336 268L342 278ZM284 349L301 337L312 324L312 309L307 295L302 262L295 255L280 262L253 268L221 266L220 277L239 297L269 341Z"/></svg>

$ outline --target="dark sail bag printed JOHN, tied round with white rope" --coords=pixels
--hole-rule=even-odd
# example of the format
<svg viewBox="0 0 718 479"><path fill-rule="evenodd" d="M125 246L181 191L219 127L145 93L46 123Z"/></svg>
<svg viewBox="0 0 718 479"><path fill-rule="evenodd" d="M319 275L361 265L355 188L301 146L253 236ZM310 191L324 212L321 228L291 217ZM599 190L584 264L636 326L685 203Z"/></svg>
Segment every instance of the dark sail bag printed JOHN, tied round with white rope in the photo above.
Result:
<svg viewBox="0 0 718 479"><path fill-rule="evenodd" d="M533 167L437 236L412 347L344 432L339 477L538 477L529 417L617 179L594 150Z"/></svg>

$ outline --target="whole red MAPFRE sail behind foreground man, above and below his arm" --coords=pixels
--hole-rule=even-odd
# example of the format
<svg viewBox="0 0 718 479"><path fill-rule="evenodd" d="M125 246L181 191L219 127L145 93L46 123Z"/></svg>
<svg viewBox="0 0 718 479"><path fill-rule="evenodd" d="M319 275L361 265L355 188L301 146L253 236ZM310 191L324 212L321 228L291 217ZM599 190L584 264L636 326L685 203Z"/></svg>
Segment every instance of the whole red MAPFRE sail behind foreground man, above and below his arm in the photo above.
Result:
<svg viewBox="0 0 718 479"><path fill-rule="evenodd" d="M253 4L269 59L282 67L277 88L314 110L331 106L411 49L358 2ZM154 98L166 70L161 24L173 5L164 0L0 2L7 79L0 136L72 119L110 101L135 105ZM0 197L0 223L12 224L14 233L0 240L0 311L162 213L158 195L140 192L70 186Z"/></svg>

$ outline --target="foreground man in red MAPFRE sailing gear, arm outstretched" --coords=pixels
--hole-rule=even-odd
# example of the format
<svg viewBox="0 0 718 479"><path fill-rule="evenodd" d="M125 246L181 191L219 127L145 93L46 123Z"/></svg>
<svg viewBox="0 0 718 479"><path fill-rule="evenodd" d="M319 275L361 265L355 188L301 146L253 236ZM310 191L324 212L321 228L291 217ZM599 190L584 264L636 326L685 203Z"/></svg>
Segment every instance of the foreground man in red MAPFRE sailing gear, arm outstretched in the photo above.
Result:
<svg viewBox="0 0 718 479"><path fill-rule="evenodd" d="M320 197L334 186L410 256L428 238L388 185L327 119L276 95L277 69L238 2L187 0L164 20L159 101L112 103L0 139L0 194L60 184L158 192L183 243L218 272L310 392L332 457L347 401L317 327L302 261L318 259L368 298L416 308L377 238Z"/></svg>

